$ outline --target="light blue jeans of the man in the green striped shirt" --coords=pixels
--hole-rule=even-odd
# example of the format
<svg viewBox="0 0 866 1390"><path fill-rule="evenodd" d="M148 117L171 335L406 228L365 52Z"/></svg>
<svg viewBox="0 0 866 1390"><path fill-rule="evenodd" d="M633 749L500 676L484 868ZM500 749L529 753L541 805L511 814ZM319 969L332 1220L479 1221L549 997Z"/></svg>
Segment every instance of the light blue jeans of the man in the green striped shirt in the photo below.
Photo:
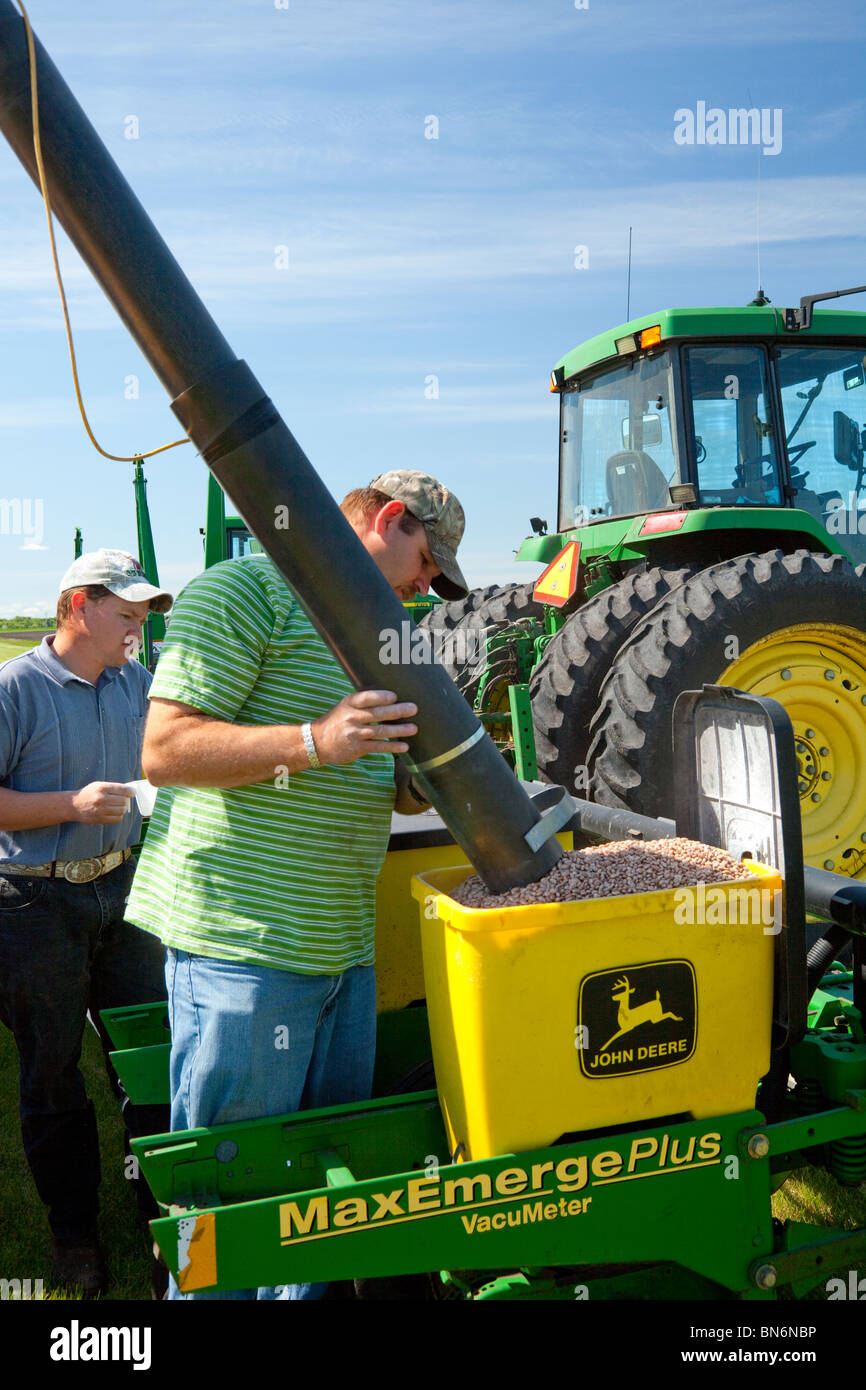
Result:
<svg viewBox="0 0 866 1390"><path fill-rule="evenodd" d="M168 951L171 1129L366 1101L375 1061L375 970L296 974ZM170 1298L321 1298L327 1284Z"/></svg>

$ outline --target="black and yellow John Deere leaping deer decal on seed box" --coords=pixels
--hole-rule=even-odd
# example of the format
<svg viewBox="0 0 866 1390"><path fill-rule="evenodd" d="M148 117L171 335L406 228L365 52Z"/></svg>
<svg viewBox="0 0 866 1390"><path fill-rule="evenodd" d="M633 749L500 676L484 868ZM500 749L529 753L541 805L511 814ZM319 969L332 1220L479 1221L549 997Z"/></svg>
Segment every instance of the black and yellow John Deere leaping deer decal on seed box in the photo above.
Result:
<svg viewBox="0 0 866 1390"><path fill-rule="evenodd" d="M655 960L585 976L577 1022L587 1038L577 1054L584 1076L628 1076L688 1061L698 1031L691 962Z"/></svg>

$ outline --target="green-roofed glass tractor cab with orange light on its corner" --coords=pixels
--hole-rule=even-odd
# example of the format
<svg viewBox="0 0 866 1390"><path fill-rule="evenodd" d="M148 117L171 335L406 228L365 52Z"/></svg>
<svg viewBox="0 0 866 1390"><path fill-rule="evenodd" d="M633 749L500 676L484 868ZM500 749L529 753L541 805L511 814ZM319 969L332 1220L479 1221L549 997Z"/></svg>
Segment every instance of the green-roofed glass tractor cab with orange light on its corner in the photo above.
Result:
<svg viewBox="0 0 866 1390"><path fill-rule="evenodd" d="M760 303L667 310L591 339L552 377L560 535L616 521L626 537L621 523L649 513L724 509L685 527L714 532L708 557L742 550L748 528L862 563L865 352L866 314L819 310L806 327ZM645 534L673 528L653 516Z"/></svg>

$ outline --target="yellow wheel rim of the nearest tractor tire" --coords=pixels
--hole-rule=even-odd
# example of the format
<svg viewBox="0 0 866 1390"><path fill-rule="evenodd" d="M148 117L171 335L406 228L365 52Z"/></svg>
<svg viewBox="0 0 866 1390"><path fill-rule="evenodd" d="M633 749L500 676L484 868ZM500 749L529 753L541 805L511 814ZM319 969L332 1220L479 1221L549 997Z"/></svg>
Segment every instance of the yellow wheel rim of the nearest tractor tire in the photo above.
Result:
<svg viewBox="0 0 866 1390"><path fill-rule="evenodd" d="M742 652L719 682L784 705L806 862L866 877L866 637L833 623L780 628Z"/></svg>

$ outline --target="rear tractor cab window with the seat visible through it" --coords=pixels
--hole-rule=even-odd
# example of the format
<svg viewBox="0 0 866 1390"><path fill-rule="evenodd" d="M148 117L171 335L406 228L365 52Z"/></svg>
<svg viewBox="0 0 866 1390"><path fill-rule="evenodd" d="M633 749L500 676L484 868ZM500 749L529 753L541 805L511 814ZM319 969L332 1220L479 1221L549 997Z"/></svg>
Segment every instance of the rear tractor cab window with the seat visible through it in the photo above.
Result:
<svg viewBox="0 0 866 1390"><path fill-rule="evenodd" d="M670 357L630 359L562 393L560 530L670 507Z"/></svg>

